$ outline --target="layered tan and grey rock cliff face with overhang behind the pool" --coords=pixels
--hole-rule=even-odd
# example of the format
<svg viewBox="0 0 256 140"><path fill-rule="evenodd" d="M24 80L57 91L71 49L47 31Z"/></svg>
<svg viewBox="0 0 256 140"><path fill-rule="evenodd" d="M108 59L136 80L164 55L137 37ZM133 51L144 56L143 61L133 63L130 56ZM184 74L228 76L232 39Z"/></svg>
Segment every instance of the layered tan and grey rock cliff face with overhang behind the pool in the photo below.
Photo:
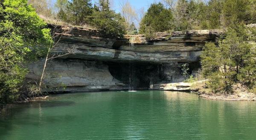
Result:
<svg viewBox="0 0 256 140"><path fill-rule="evenodd" d="M158 33L152 42L144 35L114 39L84 28L61 28L58 34L61 39L51 55L69 54L49 62L45 83L61 91L91 91L182 81L181 64L189 63L194 73L205 42L215 42L221 31ZM42 61L30 65L27 78L39 79Z"/></svg>

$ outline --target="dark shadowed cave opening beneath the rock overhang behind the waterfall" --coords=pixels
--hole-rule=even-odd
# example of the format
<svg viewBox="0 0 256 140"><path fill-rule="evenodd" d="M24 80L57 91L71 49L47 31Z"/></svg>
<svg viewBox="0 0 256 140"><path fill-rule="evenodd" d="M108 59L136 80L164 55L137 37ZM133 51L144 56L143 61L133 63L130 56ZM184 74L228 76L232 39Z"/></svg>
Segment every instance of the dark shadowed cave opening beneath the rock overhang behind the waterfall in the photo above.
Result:
<svg viewBox="0 0 256 140"><path fill-rule="evenodd" d="M130 82L129 62L104 62L108 65L109 72L113 78L121 81L125 85ZM149 89L151 84L182 82L185 77L182 75L181 65L183 62L173 63L133 63L133 88L134 90ZM200 68L199 62L189 63L189 74L194 74Z"/></svg>

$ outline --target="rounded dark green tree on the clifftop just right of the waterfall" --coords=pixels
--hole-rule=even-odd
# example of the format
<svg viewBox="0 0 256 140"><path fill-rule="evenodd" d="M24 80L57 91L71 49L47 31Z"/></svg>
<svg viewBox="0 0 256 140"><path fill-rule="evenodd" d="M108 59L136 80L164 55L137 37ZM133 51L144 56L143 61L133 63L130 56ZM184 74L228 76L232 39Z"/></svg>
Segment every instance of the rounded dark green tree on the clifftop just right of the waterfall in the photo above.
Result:
<svg viewBox="0 0 256 140"><path fill-rule="evenodd" d="M172 11L164 8L162 3L153 3L140 22L140 34L145 34L150 26L156 32L172 29Z"/></svg>

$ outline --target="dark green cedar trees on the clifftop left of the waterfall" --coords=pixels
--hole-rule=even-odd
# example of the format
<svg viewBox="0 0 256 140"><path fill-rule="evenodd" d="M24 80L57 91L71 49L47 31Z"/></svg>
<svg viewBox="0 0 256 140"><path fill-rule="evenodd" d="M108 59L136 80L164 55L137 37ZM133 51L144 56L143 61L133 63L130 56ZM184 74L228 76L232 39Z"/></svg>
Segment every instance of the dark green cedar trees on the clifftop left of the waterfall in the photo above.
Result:
<svg viewBox="0 0 256 140"><path fill-rule="evenodd" d="M59 0L61 1L61 0ZM89 24L113 37L125 34L125 21L120 14L110 9L109 0L99 0L99 5L92 6L91 0L71 0L66 5L56 3L59 8L58 17L72 25Z"/></svg>

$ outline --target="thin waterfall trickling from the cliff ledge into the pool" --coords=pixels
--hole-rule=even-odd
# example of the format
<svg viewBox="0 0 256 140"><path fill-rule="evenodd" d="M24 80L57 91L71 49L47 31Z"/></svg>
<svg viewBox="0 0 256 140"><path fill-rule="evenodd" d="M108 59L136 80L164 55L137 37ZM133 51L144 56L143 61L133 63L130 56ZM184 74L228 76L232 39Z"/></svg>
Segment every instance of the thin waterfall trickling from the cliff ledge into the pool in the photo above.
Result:
<svg viewBox="0 0 256 140"><path fill-rule="evenodd" d="M130 55L133 56L135 46L134 43L131 42L132 38L130 38ZM129 68L130 68L130 73L129 73L129 91L134 91L134 60L132 57L129 59Z"/></svg>

